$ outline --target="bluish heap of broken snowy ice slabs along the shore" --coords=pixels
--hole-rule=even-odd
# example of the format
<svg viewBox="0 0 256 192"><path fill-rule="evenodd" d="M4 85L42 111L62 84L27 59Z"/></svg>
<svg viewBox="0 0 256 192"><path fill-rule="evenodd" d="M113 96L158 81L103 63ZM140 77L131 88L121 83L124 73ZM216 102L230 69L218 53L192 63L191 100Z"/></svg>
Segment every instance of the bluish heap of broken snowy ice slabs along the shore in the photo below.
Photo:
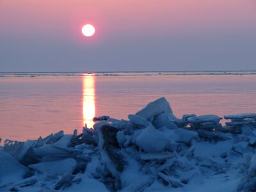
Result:
<svg viewBox="0 0 256 192"><path fill-rule="evenodd" d="M250 191L256 114L173 115L166 99L83 133L4 142L0 191Z"/></svg>

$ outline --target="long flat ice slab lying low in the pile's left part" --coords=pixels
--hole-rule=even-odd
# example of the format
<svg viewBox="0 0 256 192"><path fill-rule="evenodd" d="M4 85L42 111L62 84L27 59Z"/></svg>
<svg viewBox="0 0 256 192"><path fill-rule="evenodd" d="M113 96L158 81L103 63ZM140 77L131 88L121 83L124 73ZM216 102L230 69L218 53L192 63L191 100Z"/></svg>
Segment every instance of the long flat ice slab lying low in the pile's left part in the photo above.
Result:
<svg viewBox="0 0 256 192"><path fill-rule="evenodd" d="M72 174L76 169L76 166L76 160L68 158L58 161L48 161L43 163L30 164L29 168L50 175L64 175Z"/></svg>

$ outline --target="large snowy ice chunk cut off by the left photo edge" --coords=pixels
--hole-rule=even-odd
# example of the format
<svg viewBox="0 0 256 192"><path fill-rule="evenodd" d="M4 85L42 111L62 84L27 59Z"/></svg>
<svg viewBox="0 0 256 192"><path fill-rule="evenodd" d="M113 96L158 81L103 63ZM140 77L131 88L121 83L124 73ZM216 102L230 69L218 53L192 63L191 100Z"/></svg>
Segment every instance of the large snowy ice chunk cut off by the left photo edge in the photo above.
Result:
<svg viewBox="0 0 256 192"><path fill-rule="evenodd" d="M10 154L0 152L0 184L21 180L28 171L28 168L16 161Z"/></svg>

